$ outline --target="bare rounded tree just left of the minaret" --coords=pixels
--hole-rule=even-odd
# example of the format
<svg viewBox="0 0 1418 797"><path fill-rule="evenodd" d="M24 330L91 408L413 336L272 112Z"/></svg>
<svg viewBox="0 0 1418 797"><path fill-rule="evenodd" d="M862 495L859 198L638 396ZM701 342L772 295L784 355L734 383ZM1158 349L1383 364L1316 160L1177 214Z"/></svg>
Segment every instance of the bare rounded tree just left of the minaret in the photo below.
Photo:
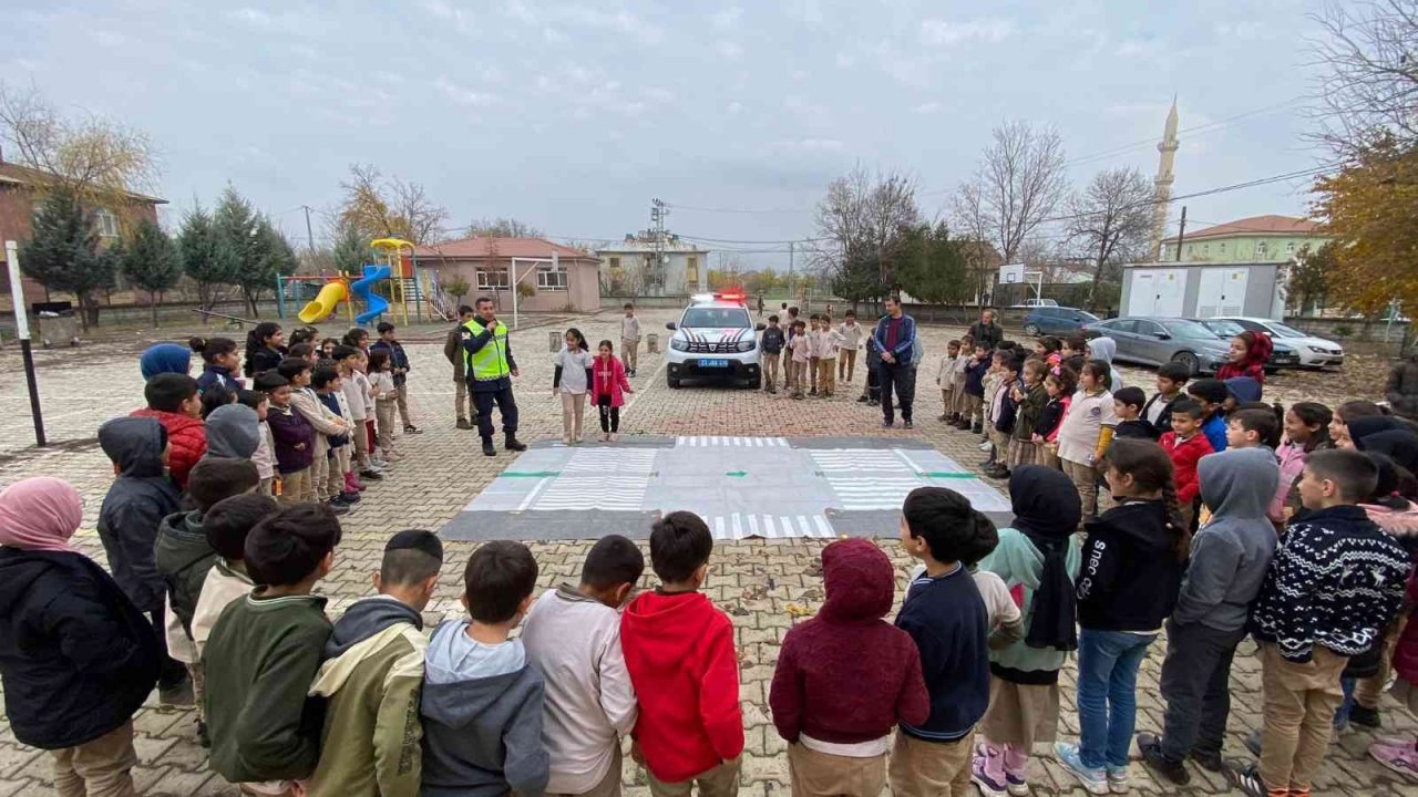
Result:
<svg viewBox="0 0 1418 797"><path fill-rule="evenodd" d="M1107 169L1071 197L1068 206L1068 240L1093 267L1088 305L1095 309L1103 269L1147 250L1156 210L1153 186L1136 169Z"/></svg>

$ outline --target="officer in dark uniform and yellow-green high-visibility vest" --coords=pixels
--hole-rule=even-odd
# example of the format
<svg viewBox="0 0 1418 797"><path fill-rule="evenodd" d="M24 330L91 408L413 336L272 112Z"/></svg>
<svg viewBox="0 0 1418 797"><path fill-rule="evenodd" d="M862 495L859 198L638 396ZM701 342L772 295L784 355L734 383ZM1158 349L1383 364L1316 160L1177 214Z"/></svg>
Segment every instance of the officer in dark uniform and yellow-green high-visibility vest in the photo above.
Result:
<svg viewBox="0 0 1418 797"><path fill-rule="evenodd" d="M502 431L506 435L503 448L526 451L518 442L518 400L512 396L512 377L519 376L518 362L512 359L512 342L508 340L508 326L498 321L492 299L479 296L478 315L464 325L462 357L468 390L478 410L478 434L482 435L482 454L496 457L492 445L492 403L502 411Z"/></svg>

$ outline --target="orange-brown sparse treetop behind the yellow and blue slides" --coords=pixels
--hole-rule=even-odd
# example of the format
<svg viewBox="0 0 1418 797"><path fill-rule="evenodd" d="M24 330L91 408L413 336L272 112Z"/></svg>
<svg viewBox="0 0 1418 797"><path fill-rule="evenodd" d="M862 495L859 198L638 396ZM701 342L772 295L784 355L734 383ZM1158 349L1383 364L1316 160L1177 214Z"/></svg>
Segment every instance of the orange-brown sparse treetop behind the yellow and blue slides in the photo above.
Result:
<svg viewBox="0 0 1418 797"><path fill-rule="evenodd" d="M421 184L398 177L386 182L374 166L352 165L340 187L345 201L337 221L364 238L394 235L414 244L431 244L440 240L448 221L448 210L430 200Z"/></svg>

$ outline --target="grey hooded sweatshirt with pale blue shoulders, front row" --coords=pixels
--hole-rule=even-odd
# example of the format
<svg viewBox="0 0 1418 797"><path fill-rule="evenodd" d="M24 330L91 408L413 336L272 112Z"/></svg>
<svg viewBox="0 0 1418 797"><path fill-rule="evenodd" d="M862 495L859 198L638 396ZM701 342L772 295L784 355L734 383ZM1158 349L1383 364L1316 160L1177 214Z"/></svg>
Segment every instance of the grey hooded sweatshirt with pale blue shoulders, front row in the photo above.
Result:
<svg viewBox="0 0 1418 797"><path fill-rule="evenodd" d="M523 797L546 791L543 681L522 640L474 641L467 620L434 631L424 658L423 793L430 797Z"/></svg>

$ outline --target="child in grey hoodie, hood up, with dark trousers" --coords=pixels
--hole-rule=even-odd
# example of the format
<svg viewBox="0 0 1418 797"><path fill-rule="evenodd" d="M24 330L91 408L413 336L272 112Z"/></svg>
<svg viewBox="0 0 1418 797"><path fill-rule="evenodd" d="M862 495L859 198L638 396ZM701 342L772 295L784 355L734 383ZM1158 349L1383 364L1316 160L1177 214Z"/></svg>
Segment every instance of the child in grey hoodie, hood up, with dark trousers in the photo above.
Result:
<svg viewBox="0 0 1418 797"><path fill-rule="evenodd" d="M1167 625L1161 695L1163 733L1137 735L1143 760L1177 784L1191 780L1183 762L1221 770L1231 712L1231 658L1275 556L1269 505L1280 469L1269 448L1234 448L1201 458L1201 499L1211 519L1191 540L1191 564Z"/></svg>

